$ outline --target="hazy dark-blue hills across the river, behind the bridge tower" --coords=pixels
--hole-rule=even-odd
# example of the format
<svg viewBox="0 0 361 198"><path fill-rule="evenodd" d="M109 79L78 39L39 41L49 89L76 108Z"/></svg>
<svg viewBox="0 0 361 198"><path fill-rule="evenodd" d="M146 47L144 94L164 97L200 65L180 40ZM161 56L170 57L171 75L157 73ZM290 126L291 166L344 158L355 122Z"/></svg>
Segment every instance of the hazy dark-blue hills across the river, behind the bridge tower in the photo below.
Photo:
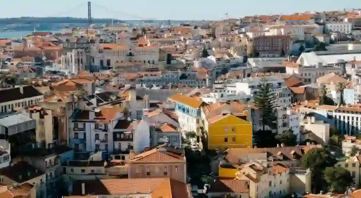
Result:
<svg viewBox="0 0 361 198"><path fill-rule="evenodd" d="M92 23L110 23L112 19L92 19ZM19 18L0 18L0 24L43 24L43 23L87 23L87 18L73 17L19 17ZM121 22L113 19L114 23Z"/></svg>

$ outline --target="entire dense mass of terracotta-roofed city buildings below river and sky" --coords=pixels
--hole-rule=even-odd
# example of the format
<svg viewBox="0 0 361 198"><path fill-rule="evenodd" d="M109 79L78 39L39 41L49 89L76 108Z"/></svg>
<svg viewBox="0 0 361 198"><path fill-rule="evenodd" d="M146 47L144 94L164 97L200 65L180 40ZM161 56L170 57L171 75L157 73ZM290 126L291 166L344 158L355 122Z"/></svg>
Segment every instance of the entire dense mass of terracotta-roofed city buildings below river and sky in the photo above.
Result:
<svg viewBox="0 0 361 198"><path fill-rule="evenodd" d="M360 9L64 31L0 40L1 198L361 197ZM261 85L297 145L257 145ZM353 183L312 194L335 133Z"/></svg>

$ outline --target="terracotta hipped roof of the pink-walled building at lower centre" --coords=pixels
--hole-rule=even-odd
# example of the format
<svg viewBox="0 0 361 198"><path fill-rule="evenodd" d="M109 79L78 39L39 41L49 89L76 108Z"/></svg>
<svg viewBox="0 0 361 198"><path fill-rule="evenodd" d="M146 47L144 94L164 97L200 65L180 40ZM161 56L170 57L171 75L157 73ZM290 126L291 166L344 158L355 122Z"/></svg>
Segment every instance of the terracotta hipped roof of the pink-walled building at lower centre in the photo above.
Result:
<svg viewBox="0 0 361 198"><path fill-rule="evenodd" d="M136 154L129 163L186 163L183 150L160 146Z"/></svg>

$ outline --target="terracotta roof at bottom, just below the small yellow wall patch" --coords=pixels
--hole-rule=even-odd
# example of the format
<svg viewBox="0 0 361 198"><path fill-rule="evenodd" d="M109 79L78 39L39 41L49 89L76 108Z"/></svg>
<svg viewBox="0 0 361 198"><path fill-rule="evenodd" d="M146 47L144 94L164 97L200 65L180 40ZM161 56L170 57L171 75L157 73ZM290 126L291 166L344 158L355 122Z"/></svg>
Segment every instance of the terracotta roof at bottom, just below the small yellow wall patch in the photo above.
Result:
<svg viewBox="0 0 361 198"><path fill-rule="evenodd" d="M247 193L249 192L248 180L219 180L210 185L210 193Z"/></svg>

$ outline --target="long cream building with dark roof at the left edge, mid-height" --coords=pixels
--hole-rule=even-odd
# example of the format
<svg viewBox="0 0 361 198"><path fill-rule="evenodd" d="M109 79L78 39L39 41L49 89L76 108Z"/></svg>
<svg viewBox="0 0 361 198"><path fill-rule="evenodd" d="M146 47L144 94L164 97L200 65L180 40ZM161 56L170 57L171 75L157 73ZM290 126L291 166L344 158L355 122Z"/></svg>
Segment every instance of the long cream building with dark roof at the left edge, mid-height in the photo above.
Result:
<svg viewBox="0 0 361 198"><path fill-rule="evenodd" d="M1 89L0 95L6 95L0 98L0 113L9 113L15 111L14 109L35 105L43 99L43 94L32 86Z"/></svg>

